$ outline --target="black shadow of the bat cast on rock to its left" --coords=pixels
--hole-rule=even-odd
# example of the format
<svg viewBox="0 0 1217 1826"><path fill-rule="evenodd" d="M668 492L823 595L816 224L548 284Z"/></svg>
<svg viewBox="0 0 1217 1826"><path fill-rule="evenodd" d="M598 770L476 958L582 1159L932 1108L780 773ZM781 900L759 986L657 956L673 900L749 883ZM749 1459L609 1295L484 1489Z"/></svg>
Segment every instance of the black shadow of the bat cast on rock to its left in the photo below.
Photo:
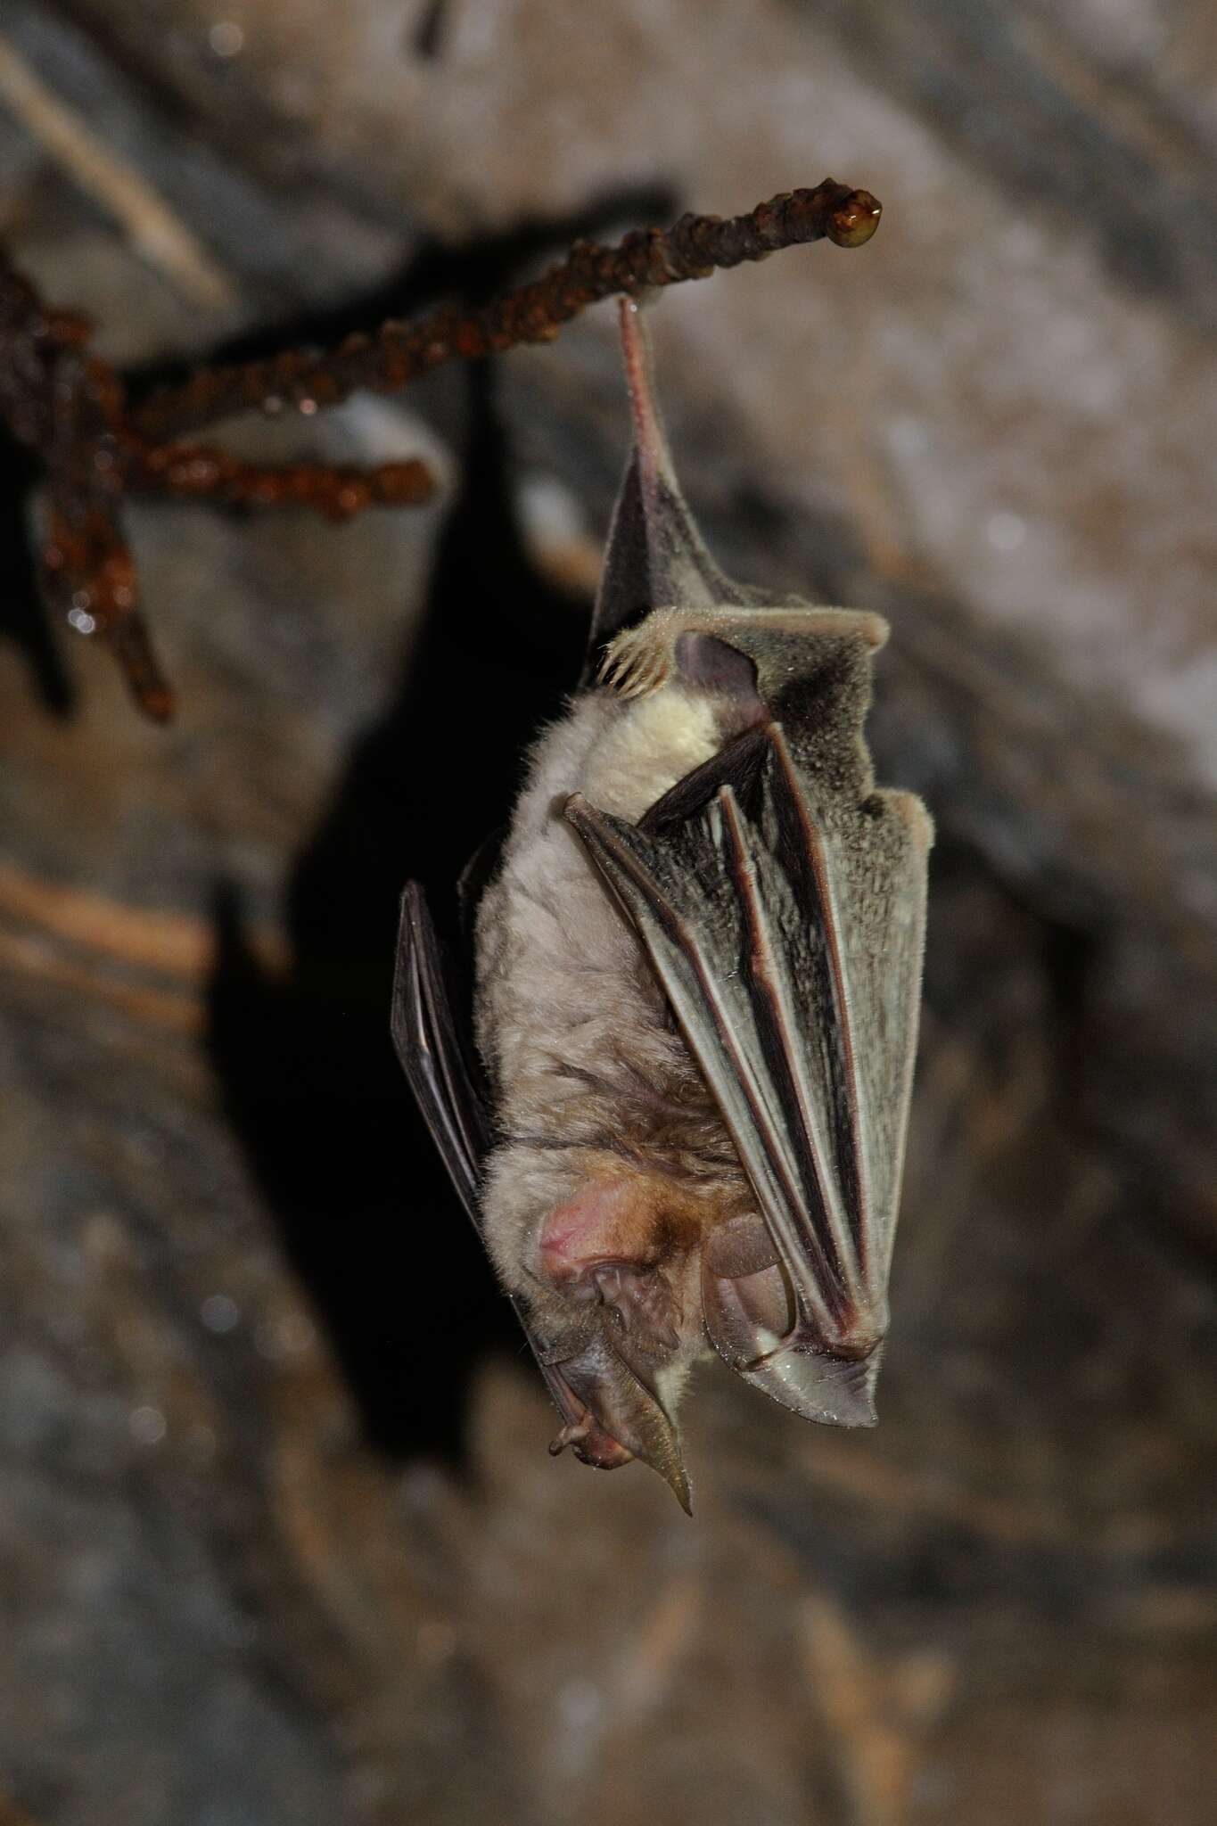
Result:
<svg viewBox="0 0 1217 1826"><path fill-rule="evenodd" d="M290 981L219 906L212 1057L232 1121L361 1404L390 1453L460 1455L465 1388L524 1340L389 1041L407 876L452 922L451 886L509 813L522 747L578 674L584 617L527 564L507 489L494 373L469 371L463 488L421 637L299 858Z"/></svg>

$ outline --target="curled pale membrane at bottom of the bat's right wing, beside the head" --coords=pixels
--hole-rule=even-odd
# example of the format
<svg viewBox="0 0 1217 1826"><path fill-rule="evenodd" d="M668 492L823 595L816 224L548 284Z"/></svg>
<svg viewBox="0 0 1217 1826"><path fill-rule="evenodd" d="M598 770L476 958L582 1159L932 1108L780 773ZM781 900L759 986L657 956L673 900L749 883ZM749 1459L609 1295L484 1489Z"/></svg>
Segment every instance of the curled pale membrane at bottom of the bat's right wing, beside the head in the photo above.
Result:
<svg viewBox="0 0 1217 1826"><path fill-rule="evenodd" d="M874 1384L881 1346L832 1353L790 1331L790 1293L777 1267L723 1275L715 1265L750 1267L761 1251L748 1238L726 1240L702 1260L706 1333L735 1375L783 1408L827 1426L874 1426Z"/></svg>

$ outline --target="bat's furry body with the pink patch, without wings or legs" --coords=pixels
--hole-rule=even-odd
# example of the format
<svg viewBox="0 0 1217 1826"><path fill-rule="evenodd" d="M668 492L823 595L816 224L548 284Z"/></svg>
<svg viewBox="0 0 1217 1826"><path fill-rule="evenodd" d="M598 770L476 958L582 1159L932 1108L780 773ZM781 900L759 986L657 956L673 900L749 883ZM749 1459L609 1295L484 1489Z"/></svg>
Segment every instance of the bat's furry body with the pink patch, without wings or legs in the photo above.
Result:
<svg viewBox="0 0 1217 1826"><path fill-rule="evenodd" d="M555 805L578 792L637 822L719 747L704 692L580 694L536 745L478 911L478 1044L504 1132L482 1198L487 1245L556 1329L597 1264L662 1253L655 1320L679 1340L659 1370L668 1406L708 1348L690 1275L701 1233L746 1181L633 931Z"/></svg>

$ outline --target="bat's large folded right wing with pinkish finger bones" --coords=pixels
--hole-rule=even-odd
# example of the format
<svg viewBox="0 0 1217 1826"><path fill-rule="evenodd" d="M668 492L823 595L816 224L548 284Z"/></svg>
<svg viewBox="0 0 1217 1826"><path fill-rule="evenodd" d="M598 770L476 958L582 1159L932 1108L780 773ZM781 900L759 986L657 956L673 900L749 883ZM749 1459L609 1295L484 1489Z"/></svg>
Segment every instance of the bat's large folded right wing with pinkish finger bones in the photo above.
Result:
<svg viewBox="0 0 1217 1826"><path fill-rule="evenodd" d="M567 818L633 920L759 1220L702 1256L706 1329L785 1406L874 1421L925 922L916 800L819 787L766 723L642 825Z"/></svg>

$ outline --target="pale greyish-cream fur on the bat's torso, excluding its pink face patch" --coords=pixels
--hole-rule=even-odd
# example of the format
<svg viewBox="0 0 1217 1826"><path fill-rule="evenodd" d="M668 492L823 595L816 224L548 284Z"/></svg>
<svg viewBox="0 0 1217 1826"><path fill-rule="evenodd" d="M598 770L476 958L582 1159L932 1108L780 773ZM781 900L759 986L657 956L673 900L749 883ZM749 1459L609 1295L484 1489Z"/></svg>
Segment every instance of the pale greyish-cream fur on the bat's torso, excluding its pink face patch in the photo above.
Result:
<svg viewBox="0 0 1217 1826"><path fill-rule="evenodd" d="M591 1172L617 1158L719 1196L723 1174L739 1174L650 964L562 818L582 792L637 822L721 740L715 701L681 683L633 701L609 690L571 699L531 752L478 909L478 1044L504 1134L482 1211L504 1284L535 1311L547 1304L540 1227Z"/></svg>

